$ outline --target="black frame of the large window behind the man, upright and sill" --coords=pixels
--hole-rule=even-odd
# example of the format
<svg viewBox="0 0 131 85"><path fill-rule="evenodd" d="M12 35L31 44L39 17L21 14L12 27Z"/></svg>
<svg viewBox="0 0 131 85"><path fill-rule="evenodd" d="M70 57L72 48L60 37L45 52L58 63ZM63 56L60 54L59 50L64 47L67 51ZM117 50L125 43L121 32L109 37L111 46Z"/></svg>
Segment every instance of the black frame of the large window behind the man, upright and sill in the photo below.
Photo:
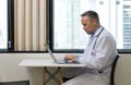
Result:
<svg viewBox="0 0 131 85"><path fill-rule="evenodd" d="M63 49L55 50L53 49L53 0L47 0L47 44L49 44L52 52L76 52L81 53L83 50L80 49ZM131 49L117 49L119 53L131 53Z"/></svg>

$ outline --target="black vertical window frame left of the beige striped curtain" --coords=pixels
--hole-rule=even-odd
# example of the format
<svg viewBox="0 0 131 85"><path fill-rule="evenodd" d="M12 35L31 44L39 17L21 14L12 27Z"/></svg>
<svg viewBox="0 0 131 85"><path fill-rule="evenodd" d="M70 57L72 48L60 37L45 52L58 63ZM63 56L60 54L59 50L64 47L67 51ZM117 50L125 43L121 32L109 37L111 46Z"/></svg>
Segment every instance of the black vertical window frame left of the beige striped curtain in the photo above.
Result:
<svg viewBox="0 0 131 85"><path fill-rule="evenodd" d="M14 51L14 0L8 0L8 51Z"/></svg>

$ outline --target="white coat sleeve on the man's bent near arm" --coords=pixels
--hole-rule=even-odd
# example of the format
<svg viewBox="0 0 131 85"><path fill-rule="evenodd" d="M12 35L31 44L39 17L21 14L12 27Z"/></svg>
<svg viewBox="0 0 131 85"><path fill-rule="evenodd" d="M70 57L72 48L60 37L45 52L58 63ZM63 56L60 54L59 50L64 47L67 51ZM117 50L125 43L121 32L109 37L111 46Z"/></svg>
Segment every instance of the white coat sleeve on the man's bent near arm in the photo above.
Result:
<svg viewBox="0 0 131 85"><path fill-rule="evenodd" d="M86 63L86 66L88 69L103 69L107 65L108 61L112 62L110 58L115 50L116 44L110 37L100 37L97 40L95 48L92 50L91 54L87 54L91 57L82 57L80 58L80 62Z"/></svg>

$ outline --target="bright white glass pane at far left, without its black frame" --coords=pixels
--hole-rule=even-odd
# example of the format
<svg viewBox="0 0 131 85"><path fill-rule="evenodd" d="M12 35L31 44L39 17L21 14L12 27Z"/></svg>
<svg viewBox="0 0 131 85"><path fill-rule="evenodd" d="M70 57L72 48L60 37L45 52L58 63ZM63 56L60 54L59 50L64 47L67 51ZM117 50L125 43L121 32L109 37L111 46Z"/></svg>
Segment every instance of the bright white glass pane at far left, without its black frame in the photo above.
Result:
<svg viewBox="0 0 131 85"><path fill-rule="evenodd" d="M0 0L0 49L7 49L8 42L8 4L7 0Z"/></svg>

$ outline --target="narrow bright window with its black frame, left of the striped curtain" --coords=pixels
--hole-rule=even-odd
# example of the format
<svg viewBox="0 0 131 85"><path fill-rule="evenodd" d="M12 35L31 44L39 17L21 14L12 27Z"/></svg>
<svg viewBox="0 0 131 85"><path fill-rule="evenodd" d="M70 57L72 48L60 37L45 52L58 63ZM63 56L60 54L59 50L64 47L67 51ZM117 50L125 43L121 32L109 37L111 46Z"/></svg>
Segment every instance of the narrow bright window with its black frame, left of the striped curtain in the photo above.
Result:
<svg viewBox="0 0 131 85"><path fill-rule="evenodd" d="M0 0L0 50L12 49L13 0ZM9 44L9 46L8 46Z"/></svg>

